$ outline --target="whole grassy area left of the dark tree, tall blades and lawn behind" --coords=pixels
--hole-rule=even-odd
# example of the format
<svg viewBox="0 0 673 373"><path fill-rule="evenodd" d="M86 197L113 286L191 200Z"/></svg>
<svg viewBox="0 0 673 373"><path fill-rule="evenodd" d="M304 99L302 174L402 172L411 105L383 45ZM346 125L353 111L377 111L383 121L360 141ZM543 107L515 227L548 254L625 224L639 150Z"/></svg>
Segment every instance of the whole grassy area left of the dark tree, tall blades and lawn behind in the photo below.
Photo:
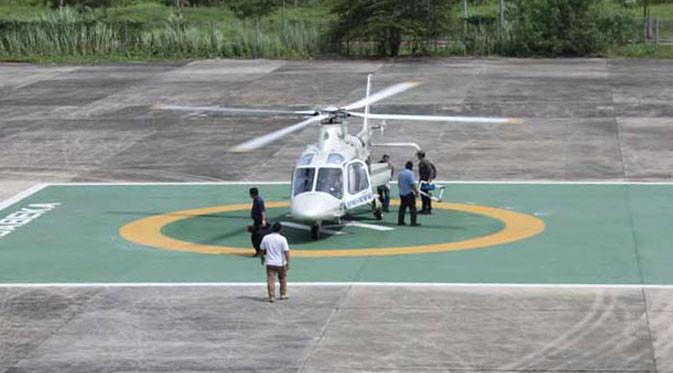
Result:
<svg viewBox="0 0 673 373"><path fill-rule="evenodd" d="M2 0L0 0L2 1ZM4 4L2 9L17 7ZM38 11L39 9L39 11ZM0 24L0 58L62 61L214 57L307 58L323 52L325 10L279 10L262 20L241 21L226 7L175 8L136 1L106 9L47 11L21 6L23 22ZM16 16L17 14L13 14Z"/></svg>

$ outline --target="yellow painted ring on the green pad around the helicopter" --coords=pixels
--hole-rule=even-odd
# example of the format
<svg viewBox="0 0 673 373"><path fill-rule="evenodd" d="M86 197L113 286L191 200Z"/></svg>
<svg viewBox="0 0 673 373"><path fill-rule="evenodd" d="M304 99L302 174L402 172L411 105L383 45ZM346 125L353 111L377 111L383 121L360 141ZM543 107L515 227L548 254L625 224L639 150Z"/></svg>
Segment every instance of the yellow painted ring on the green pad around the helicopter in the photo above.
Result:
<svg viewBox="0 0 673 373"><path fill-rule="evenodd" d="M392 204L399 204L398 201L391 201ZM267 208L287 207L287 201L267 202ZM442 251L457 251L479 249L484 247L502 245L514 241L523 240L541 233L545 224L542 220L520 212L498 209L494 207L465 205L459 203L435 203L435 208L444 210L463 211L478 215L487 216L500 220L504 223L504 228L498 232L455 242L443 242L417 246L401 246L386 248L359 248L343 250L292 250L292 256L298 257L337 257L337 256L383 256L383 255L403 255L403 254L423 254ZM175 251L185 251L200 254L229 254L229 255L250 255L251 249L242 249L238 247L204 245L194 242L177 240L161 233L161 229L167 224L176 221L190 219L202 215L210 215L222 212L241 211L250 208L249 204L235 204L206 207L192 210L182 210L170 212L163 215L150 216L148 218L136 220L119 229L119 234L126 239L140 245L168 249Z"/></svg>

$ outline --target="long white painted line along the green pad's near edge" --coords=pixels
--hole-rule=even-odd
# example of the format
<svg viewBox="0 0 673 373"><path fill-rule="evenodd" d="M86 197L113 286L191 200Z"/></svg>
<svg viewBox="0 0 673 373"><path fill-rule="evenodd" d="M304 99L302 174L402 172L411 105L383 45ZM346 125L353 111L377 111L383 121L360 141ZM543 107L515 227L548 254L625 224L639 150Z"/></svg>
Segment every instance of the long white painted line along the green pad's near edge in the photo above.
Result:
<svg viewBox="0 0 673 373"><path fill-rule="evenodd" d="M3 288L141 288L141 287L252 287L266 286L266 282L91 282L91 283L0 283ZM419 288L520 288L520 289L662 289L673 290L673 285L662 284L525 284L525 283L444 283L444 282L289 282L293 287L419 287Z"/></svg>

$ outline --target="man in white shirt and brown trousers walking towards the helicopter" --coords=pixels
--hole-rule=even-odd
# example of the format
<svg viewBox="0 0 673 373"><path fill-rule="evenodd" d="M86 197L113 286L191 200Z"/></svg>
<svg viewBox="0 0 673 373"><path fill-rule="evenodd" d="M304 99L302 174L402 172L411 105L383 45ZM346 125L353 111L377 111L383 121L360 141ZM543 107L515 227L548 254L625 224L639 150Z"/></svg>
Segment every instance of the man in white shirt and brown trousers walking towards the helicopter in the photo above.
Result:
<svg viewBox="0 0 673 373"><path fill-rule="evenodd" d="M269 293L269 302L274 301L276 274L280 282L280 299L287 299L287 271L290 270L290 246L287 239L280 234L282 225L273 223L271 233L264 236L260 245L266 264L266 287Z"/></svg>

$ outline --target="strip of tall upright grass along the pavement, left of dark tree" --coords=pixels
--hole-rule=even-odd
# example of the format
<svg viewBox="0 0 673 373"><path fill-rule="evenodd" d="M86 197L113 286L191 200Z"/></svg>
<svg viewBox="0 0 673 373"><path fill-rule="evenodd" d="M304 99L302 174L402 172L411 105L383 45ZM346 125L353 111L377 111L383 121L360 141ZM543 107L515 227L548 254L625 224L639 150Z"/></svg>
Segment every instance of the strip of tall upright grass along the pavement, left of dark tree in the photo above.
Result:
<svg viewBox="0 0 673 373"><path fill-rule="evenodd" d="M239 20L194 25L169 17L162 27L144 30L135 26L64 8L32 22L0 24L0 56L299 58L325 49L324 26L308 22L274 23L259 34Z"/></svg>

